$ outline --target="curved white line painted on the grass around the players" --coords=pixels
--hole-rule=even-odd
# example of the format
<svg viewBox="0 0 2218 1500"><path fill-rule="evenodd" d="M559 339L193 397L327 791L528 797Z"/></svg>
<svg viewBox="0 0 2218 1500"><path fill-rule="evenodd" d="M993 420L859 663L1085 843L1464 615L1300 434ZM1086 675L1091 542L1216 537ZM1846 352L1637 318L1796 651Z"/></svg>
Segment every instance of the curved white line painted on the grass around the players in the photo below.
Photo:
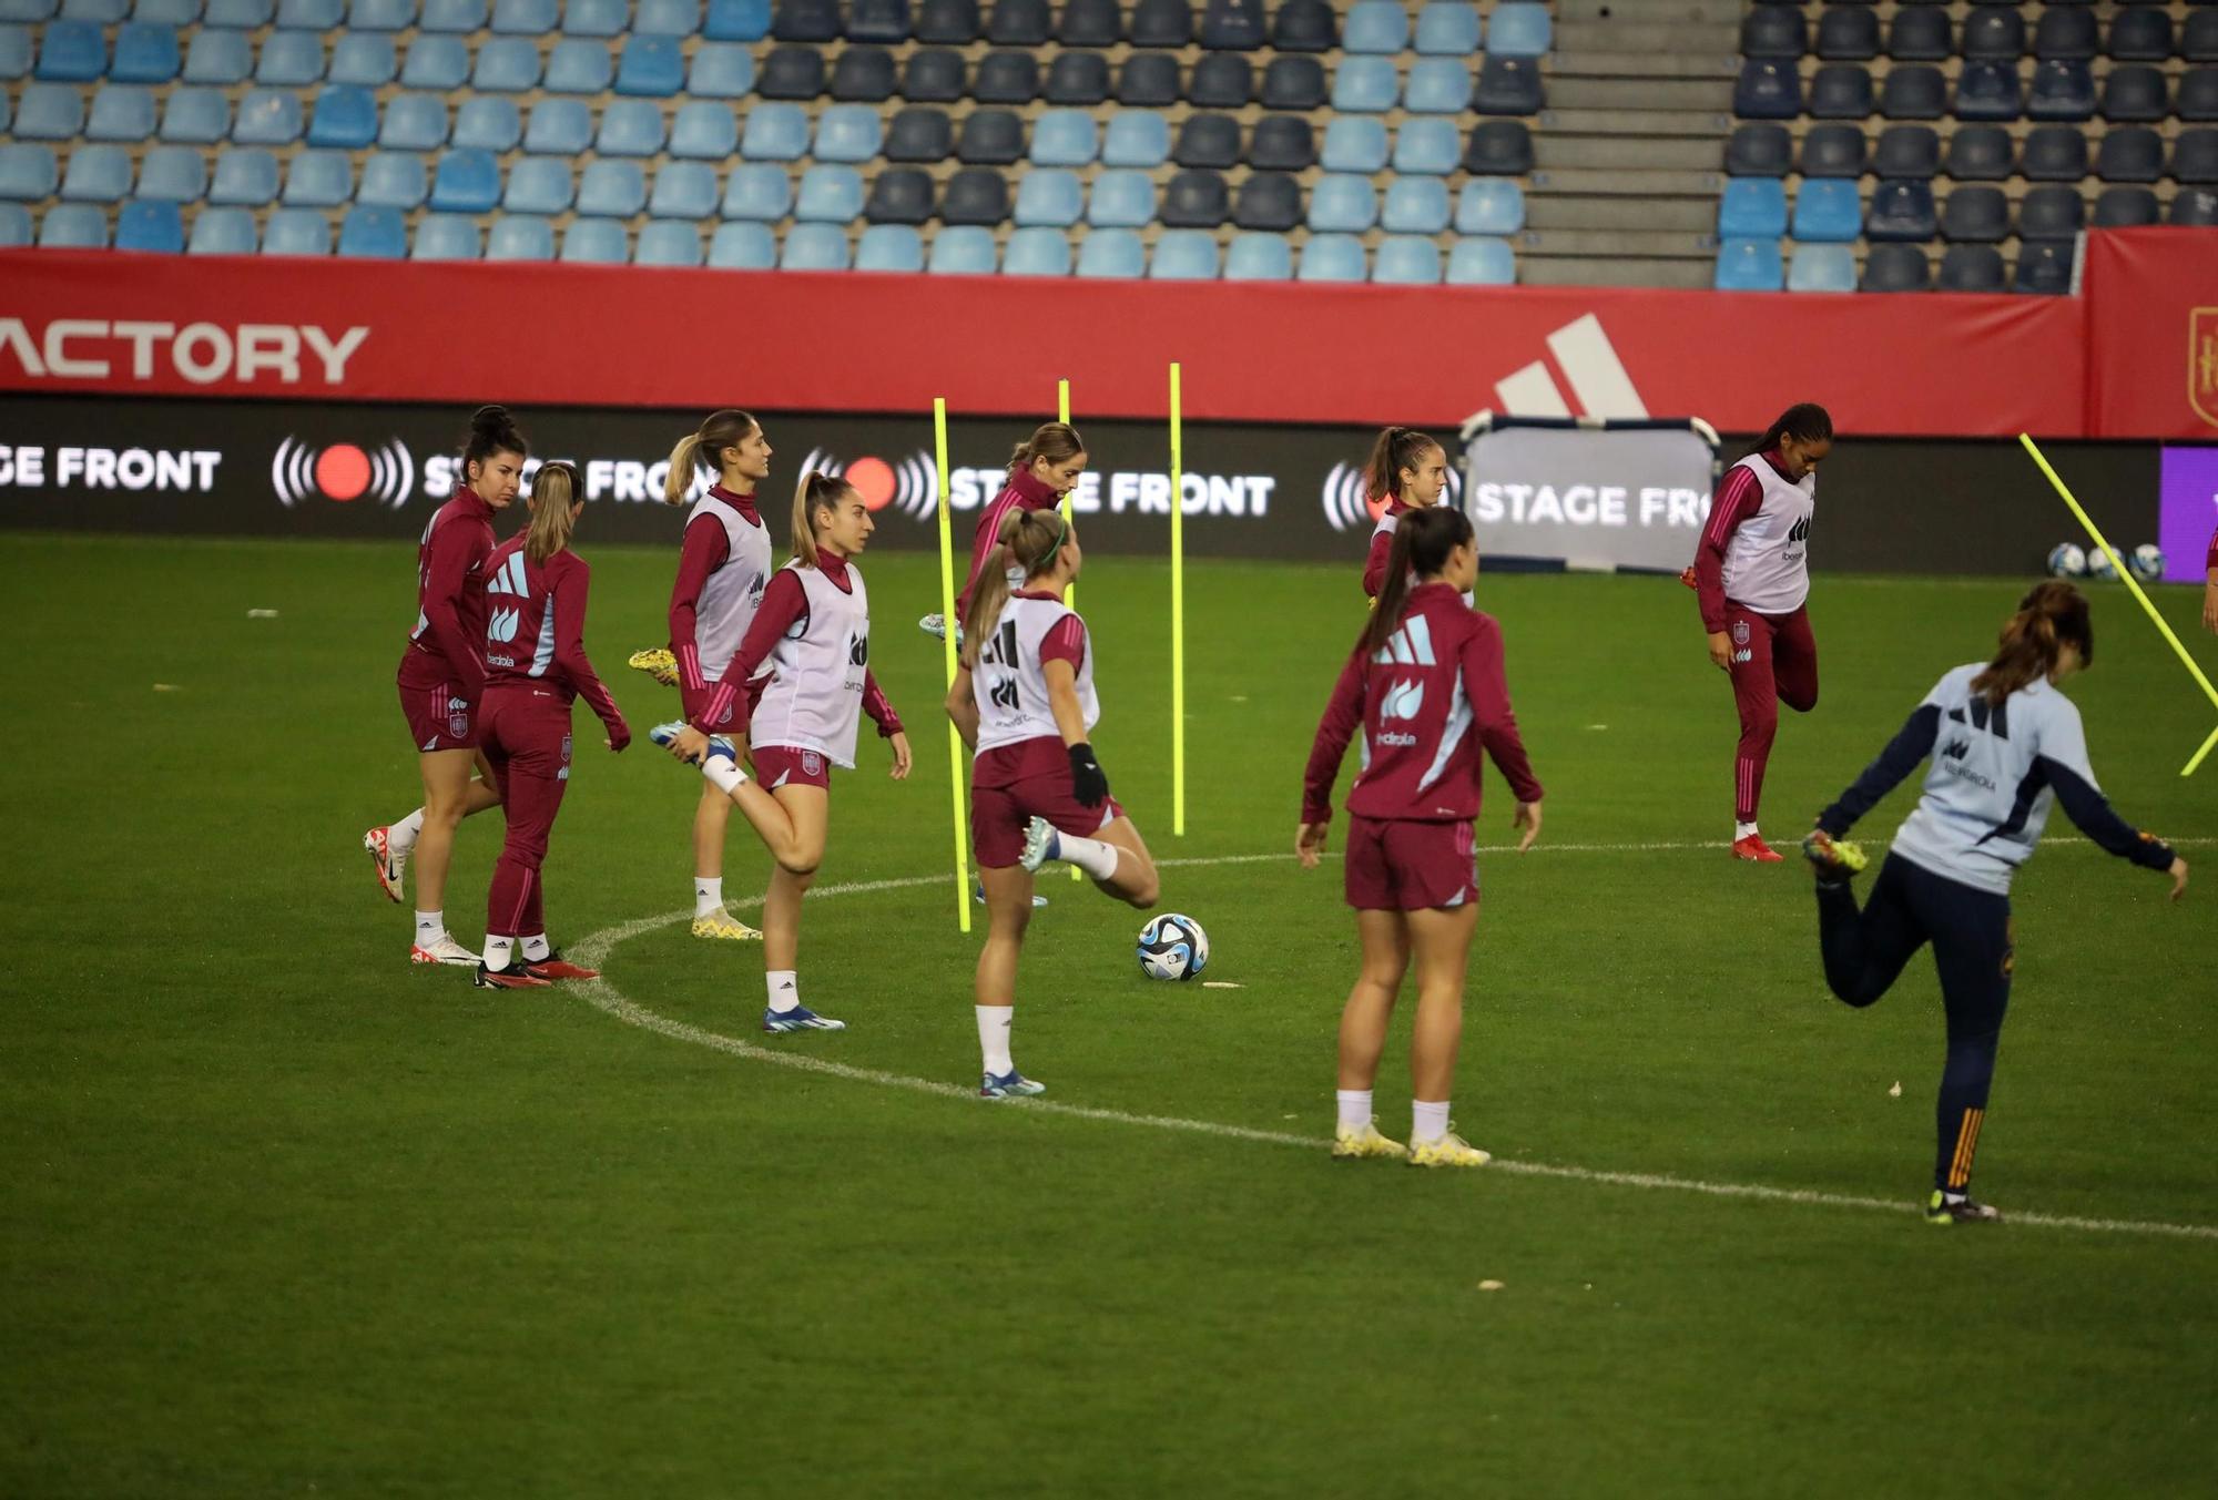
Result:
<svg viewBox="0 0 2218 1500"><path fill-rule="evenodd" d="M2074 841L2074 843L2085 843ZM2211 843L2209 839L2176 839L2174 843ZM1482 852L1510 852L1513 845L1479 845ZM1555 843L1535 845L1533 852L1555 852L1555 854L1610 854L1610 852L1646 852L1646 850L1721 850L1728 848L1719 843ZM2085 843L2085 848L2094 848ZM1193 868L1193 865L1253 865L1293 859L1291 852L1284 854L1213 854L1200 859L1160 859L1158 865L1167 868ZM923 885L943 885L947 874L907 874L887 881L849 881L843 885L818 885L810 892L810 899L821 896L861 896L878 890L916 890ZM754 908L761 905L763 896L752 896L736 905ZM614 928L603 928L592 936L581 939L570 945L570 961L588 970L599 970L608 963L608 954L621 943L637 936L645 936L659 928L670 928L681 921L690 921L692 912L663 912L659 916L641 916ZM807 1052L790 1052L781 1047L763 1047L752 1041L741 1041L739 1036L725 1036L721 1032L708 1032L685 1021L674 1021L659 1012L625 999L614 983L603 979L590 979L574 985L594 1010L614 1016L625 1025L637 1025L643 1032L654 1032L657 1036L668 1036L670 1041L681 1041L692 1047L708 1047L712 1052L723 1052L728 1056L745 1058L750 1063L772 1063L774 1067L792 1067L796 1072L821 1074L827 1078L845 1078L849 1083L872 1083L887 1089L907 1089L912 1094L936 1094L940 1098L960 1098L967 1103L978 1103L978 1092L960 1083L943 1083L938 1078L912 1078L907 1074L892 1074L876 1067L854 1067L852 1063L834 1063L830 1058L812 1056ZM1289 1145L1309 1152L1317 1152L1331 1145L1322 1134L1300 1136L1284 1129L1253 1129L1249 1125L1224 1125L1218 1121L1189 1121L1173 1114L1131 1114L1127 1109L1105 1109L1096 1105L1067 1105L1049 1098L1022 1098L1022 1101L998 1101L1003 1109L1029 1109L1038 1114L1060 1114L1078 1121L1105 1121L1111 1125L1144 1125L1149 1129L1178 1129L1193 1136L1218 1136L1224 1141L1255 1141L1260 1145ZM1488 1172L1508 1172L1513 1176L1542 1176L1561 1178L1573 1183L1599 1183L1606 1187L1646 1187L1666 1189L1683 1194L1701 1194L1708 1198L1752 1198L1759 1203L1803 1203L1814 1207L1834 1209L1868 1209L1881 1214L1914 1214L1919 1205L1907 1198L1859 1198L1852 1194L1828 1194L1805 1187L1766 1187L1761 1183L1706 1183L1699 1178L1666 1176L1655 1172L1599 1172L1595 1167L1561 1167L1555 1163L1537 1161L1502 1161L1499 1156L1488 1163ZM2038 1229L2080 1229L2094 1234L2147 1234L2147 1236L2169 1236L2169 1238L2191 1238L2191 1240L2218 1240L2218 1225L2171 1225L2143 1218L2078 1218L2072 1214L2027 1214L2012 1212L2010 1223L2034 1225Z"/></svg>

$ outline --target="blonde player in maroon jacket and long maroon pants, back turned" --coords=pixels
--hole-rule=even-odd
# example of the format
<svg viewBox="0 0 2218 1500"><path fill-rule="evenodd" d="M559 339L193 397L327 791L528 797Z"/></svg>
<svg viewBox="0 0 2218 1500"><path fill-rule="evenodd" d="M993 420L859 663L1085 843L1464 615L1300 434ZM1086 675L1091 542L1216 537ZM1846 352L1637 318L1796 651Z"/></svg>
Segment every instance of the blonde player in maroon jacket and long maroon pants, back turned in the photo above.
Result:
<svg viewBox="0 0 2218 1500"><path fill-rule="evenodd" d="M570 550L586 508L577 468L541 464L532 475L532 519L486 559L484 754L501 792L508 839L486 896L481 990L523 990L557 979L594 979L548 945L539 870L570 788L570 703L579 697L623 750L632 730L586 657L586 595L592 570ZM521 947L521 952L519 952Z"/></svg>

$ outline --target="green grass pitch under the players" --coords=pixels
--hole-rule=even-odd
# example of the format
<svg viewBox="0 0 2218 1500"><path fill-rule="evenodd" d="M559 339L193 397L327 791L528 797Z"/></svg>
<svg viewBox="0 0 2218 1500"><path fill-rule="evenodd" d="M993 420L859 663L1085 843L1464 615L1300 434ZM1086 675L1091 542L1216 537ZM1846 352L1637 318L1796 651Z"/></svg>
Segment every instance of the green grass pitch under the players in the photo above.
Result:
<svg viewBox="0 0 2218 1500"><path fill-rule="evenodd" d="M1286 852L1360 557L1193 564L1184 839L1167 570L1098 557L1096 746L1158 857L1193 861L1162 910L1240 987L1147 983L1140 916L1056 879L1016 1056L1100 1114L765 1065L701 1041L976 1083L940 657L914 626L936 564L865 561L918 768L892 783L865 737L836 783L803 994L852 1030L763 1038L761 950L652 925L690 901L696 777L645 743L676 695L623 657L663 639L674 550L594 548L590 521L581 548L588 643L641 739L610 757L579 714L548 914L572 945L648 925L603 939L606 987L519 996L410 967L359 850L417 801L393 692L410 548L0 537L0 1493L2207 1482L2218 1238L2134 1225L2218 1225L2218 868L2171 908L2052 821L1978 1187L2129 1223L1932 1229L1907 1212L1932 965L1850 1012L1808 872L1726 859L1732 703L1692 599L1484 577L1548 799L1539 850L1482 854L1455 1114L1504 1163L1679 1185L1333 1163L1353 923L1337 863ZM1823 699L1785 717L1766 828L1805 828L2018 588L1821 575ZM2094 595L2098 661L2069 690L2096 770L2202 861L2218 770L2178 768L2214 714L2125 590ZM2196 597L2158 597L2209 663ZM1488 772L1482 845L1508 812ZM499 832L457 848L472 945ZM1258 859L1209 863L1229 857ZM734 819L728 888L763 870ZM867 883L894 885L838 894Z"/></svg>

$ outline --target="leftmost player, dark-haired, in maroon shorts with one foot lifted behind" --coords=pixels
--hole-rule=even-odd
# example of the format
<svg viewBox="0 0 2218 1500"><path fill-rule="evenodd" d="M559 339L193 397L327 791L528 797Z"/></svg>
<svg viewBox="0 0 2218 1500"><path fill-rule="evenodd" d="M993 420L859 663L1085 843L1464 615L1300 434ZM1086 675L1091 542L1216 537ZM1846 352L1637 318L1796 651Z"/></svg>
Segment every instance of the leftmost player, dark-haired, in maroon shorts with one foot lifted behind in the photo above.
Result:
<svg viewBox="0 0 2218 1500"><path fill-rule="evenodd" d="M461 450L464 484L433 513L417 544L417 624L401 652L399 690L424 805L362 834L390 901L401 899L401 872L415 854L413 963L477 963L446 930L446 865L461 819L501 805L492 766L477 748L477 699L486 688L484 570L492 517L515 501L528 453L503 406L479 406Z"/></svg>

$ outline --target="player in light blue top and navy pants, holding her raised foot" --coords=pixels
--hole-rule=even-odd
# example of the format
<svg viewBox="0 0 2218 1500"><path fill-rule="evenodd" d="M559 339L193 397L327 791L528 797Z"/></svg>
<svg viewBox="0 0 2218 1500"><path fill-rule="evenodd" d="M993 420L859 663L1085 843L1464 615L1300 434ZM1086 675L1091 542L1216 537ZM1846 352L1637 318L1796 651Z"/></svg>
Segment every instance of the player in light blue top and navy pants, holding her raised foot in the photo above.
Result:
<svg viewBox="0 0 2218 1500"><path fill-rule="evenodd" d="M2049 808L2063 803L2065 817L2112 854L2169 874L2174 901L2187 890L2187 861L2129 828L2096 786L2078 708L2056 690L2089 663L2087 599L2069 584L2041 584L2003 626L1994 659L1941 677L1803 839L1803 854L1817 865L1825 983L1837 996L1870 1005L1919 947L1934 945L1947 1010L1934 1192L1925 1205L1936 1225L2001 1218L1972 1200L1972 1156L2010 1007L2010 881L2041 841ZM1927 757L1919 805L1896 830L1872 899L1859 912L1850 876L1865 857L1839 839Z"/></svg>

